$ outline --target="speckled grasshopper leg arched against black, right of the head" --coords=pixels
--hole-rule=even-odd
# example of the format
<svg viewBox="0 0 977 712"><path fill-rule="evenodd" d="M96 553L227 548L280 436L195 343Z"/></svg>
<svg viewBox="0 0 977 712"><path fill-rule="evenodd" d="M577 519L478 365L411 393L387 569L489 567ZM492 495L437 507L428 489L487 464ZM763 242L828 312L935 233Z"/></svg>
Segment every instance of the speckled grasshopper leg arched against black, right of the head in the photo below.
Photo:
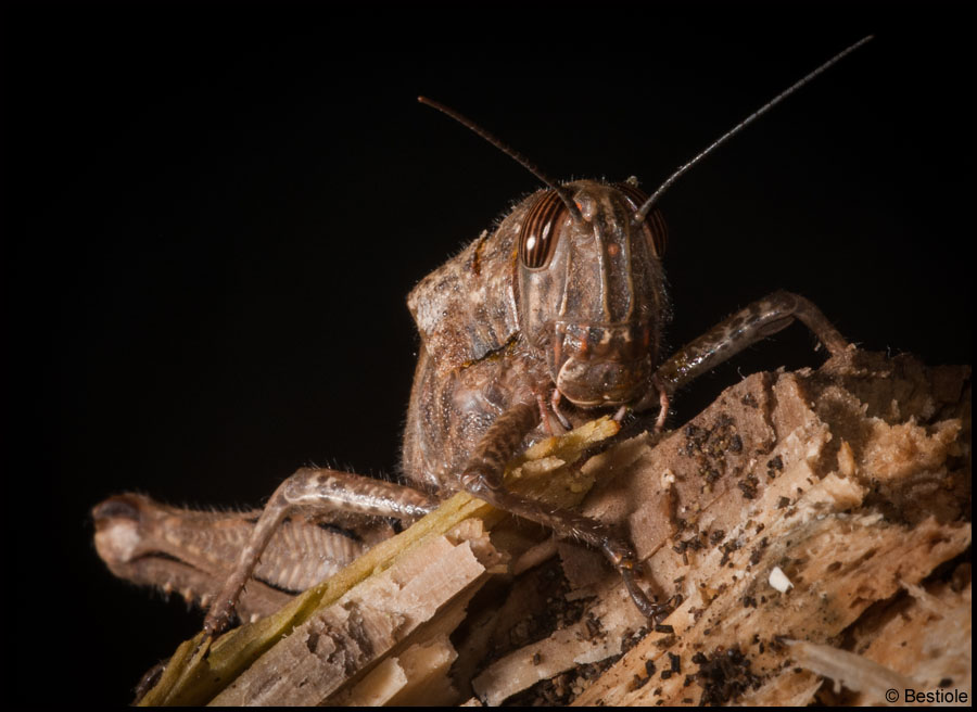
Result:
<svg viewBox="0 0 977 712"><path fill-rule="evenodd" d="M747 346L787 328L795 319L800 319L814 332L833 355L848 348L845 336L812 302L799 294L777 291L683 346L659 367L652 383L661 393L672 394Z"/></svg>

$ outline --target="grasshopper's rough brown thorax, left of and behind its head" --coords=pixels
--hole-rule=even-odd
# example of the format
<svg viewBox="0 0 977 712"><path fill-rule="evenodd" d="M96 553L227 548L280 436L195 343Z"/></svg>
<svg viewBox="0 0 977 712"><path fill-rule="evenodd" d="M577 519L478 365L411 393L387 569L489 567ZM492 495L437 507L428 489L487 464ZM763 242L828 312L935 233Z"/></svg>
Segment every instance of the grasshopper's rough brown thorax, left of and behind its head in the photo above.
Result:
<svg viewBox="0 0 977 712"><path fill-rule="evenodd" d="M407 296L422 344L402 471L428 492L458 488L479 438L545 372L518 343L512 228L524 214L520 204L494 233L483 232Z"/></svg>

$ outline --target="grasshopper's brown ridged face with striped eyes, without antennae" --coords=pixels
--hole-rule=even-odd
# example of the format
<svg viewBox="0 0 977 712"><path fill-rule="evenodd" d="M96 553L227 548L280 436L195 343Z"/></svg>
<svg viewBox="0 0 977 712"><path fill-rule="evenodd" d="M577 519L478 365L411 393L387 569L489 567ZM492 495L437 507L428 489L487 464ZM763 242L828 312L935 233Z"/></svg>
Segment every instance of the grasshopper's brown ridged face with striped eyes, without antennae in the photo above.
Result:
<svg viewBox="0 0 977 712"><path fill-rule="evenodd" d="M568 185L579 215L554 190L529 200L519 228L520 329L543 351L562 396L582 407L640 398L665 319L659 254L663 223L636 223L631 185Z"/></svg>

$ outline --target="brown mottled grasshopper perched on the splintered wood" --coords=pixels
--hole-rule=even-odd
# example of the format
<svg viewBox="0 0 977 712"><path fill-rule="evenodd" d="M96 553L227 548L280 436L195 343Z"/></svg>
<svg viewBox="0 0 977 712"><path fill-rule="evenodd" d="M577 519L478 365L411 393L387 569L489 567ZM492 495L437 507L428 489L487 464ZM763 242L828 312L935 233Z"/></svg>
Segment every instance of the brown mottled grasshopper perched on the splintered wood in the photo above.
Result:
<svg viewBox="0 0 977 712"><path fill-rule="evenodd" d="M660 428L676 389L794 318L833 353L847 342L808 300L776 292L659 366L670 314L660 262L665 243L660 215L654 212L642 223L633 219L645 196L630 181L581 180L561 190L572 203L562 202L554 189L530 195L492 234L483 232L421 280L408 297L422 346L402 469L416 488L334 470L299 470L278 487L256 523L249 524L237 562L214 567L214 576L230 573L215 596L206 630L216 633L227 626L244 584L262 574L262 569L255 572L263 552L265 571L286 567L287 557L268 547L288 519L348 525L351 516L366 516L409 522L459 490L602 551L635 603L647 615L663 613L664 607L648 601L635 583L636 562L626 542L596 521L545 510L508 492L502 480L506 461L561 423L578 425L600 410L657 405ZM161 539L145 535L141 548L119 548L132 517L120 511L118 503L109 506L112 501L96 509L96 519L105 532L100 551L113 570L141 581L155 577L158 585L182 576L212 593L199 575L183 571L194 570L194 559L181 555L179 546L157 545L165 557L154 561L147 552L132 561L115 556L123 549L148 550ZM185 529L211 525L192 519L186 518ZM110 542L109 533L117 541Z"/></svg>

